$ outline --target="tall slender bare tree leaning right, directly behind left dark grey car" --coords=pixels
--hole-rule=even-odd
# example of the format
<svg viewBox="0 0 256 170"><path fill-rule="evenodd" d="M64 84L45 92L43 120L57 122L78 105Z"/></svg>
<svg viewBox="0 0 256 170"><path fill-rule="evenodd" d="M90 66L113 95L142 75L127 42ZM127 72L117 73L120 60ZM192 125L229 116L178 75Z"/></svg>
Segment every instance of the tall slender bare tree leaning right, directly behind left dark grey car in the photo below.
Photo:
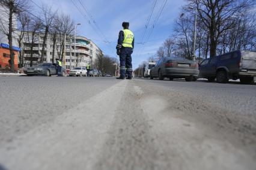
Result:
<svg viewBox="0 0 256 170"><path fill-rule="evenodd" d="M43 37L43 47L41 50L41 59L40 62L43 63L43 57L45 54L45 46L46 46L46 40L49 34L50 29L53 27L53 20L55 19L56 16L56 11L53 12L52 8L47 7L46 5L43 5L43 29L44 29L44 37Z"/></svg>

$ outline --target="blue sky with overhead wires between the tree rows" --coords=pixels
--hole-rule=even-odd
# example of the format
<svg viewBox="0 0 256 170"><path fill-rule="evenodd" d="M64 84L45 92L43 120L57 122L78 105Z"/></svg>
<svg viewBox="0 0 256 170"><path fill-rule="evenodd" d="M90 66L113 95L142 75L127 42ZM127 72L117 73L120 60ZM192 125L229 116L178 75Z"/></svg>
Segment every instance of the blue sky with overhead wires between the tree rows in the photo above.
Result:
<svg viewBox="0 0 256 170"><path fill-rule="evenodd" d="M160 8L165 3L165 0L156 1L147 30L145 29L145 25L150 16L154 0L81 0L82 4L91 14L91 17L88 16L82 8L79 0L73 1L84 11L87 15L86 17L82 16L71 0L34 0L38 5L47 4L54 10L69 14L76 23L81 23L77 29L78 35L93 40L103 50L104 54L108 54L111 57L116 56L115 46L117 44L118 32L122 29L121 23L123 21L130 22L130 30L135 34L135 48L132 55L133 69L144 60L147 60L148 57L156 54L159 46L170 34L172 34L174 20L180 13L181 6L185 4L183 0L167 0L159 20L157 21L157 24L154 25L153 32L148 38L149 31L153 26L154 20L156 20ZM36 6L34 8L34 11L39 11ZM90 18L93 19L91 19L89 23L88 20ZM101 33L97 34L93 20L100 28L102 34L104 34L104 38ZM147 38L148 41L146 44L142 45L140 43L142 42L144 32L144 41L147 40Z"/></svg>

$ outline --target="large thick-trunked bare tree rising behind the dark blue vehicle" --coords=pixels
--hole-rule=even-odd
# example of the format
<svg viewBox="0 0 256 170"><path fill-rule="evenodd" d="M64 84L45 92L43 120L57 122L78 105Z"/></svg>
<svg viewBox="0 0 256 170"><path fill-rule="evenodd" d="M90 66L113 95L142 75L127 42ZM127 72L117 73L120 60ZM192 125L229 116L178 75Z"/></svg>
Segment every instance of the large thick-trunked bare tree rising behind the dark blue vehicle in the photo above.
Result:
<svg viewBox="0 0 256 170"><path fill-rule="evenodd" d="M239 15L248 1L239 0L187 0L188 6L194 5L201 22L209 29L210 57L216 56L216 49L221 35L235 26L234 16Z"/></svg>

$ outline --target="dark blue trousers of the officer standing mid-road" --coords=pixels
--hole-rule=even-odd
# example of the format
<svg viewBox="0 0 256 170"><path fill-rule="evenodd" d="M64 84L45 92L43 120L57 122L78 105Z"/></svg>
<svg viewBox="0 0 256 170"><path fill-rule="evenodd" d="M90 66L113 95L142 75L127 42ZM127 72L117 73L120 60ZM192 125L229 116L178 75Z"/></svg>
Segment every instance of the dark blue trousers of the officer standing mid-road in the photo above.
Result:
<svg viewBox="0 0 256 170"><path fill-rule="evenodd" d="M132 77L132 48L121 47L120 50L120 77Z"/></svg>

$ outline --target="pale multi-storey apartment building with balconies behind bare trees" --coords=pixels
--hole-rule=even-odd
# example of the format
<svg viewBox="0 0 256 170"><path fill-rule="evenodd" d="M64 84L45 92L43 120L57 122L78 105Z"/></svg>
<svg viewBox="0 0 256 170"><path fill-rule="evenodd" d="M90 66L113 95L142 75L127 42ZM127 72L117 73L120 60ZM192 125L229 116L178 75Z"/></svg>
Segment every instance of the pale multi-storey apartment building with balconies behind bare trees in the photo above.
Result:
<svg viewBox="0 0 256 170"><path fill-rule="evenodd" d="M23 37L23 52L24 52L24 66L29 66L32 60L32 65L37 65L40 62L41 52L43 48L43 33L37 33L34 38L34 45L32 48L31 59L31 39L32 33L25 33ZM75 37L70 36L66 38L65 48L61 47L61 40L56 38L54 58L61 56L64 53L63 65L67 69L74 68L75 66L85 67L87 63L93 65L97 56L102 55L102 50L92 41L86 37L77 36L76 43ZM46 46L44 47L43 62L52 62L53 56L53 35L48 35L46 40Z"/></svg>

